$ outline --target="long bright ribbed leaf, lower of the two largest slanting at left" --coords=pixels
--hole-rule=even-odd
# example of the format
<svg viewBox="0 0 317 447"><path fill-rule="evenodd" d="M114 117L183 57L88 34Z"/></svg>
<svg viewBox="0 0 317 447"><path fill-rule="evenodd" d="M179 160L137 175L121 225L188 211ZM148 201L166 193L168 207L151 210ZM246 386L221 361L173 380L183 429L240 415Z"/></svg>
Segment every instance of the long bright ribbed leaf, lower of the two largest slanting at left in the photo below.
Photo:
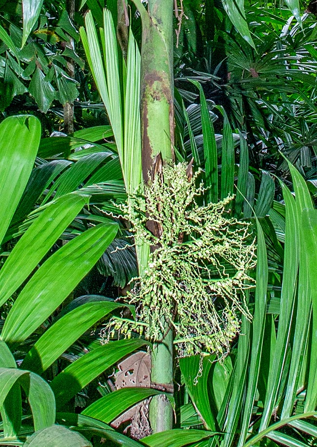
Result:
<svg viewBox="0 0 317 447"><path fill-rule="evenodd" d="M50 256L15 301L4 323L3 340L13 344L29 337L95 265L117 231L116 224L100 224Z"/></svg>

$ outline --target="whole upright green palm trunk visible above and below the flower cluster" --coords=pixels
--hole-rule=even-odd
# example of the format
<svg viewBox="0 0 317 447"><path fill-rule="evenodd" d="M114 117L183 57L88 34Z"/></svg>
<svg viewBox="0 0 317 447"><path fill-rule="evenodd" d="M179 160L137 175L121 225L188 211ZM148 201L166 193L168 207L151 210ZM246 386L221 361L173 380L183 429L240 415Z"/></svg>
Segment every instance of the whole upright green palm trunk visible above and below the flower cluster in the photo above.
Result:
<svg viewBox="0 0 317 447"><path fill-rule="evenodd" d="M148 12L144 8L139 9L143 25L142 173L146 183L157 154L161 154L163 163L174 160L173 0L149 0ZM155 232L156 229L152 231ZM162 318L165 333L161 334L162 341L154 345L151 381L158 389L171 391L173 390L173 331L169 330L168 316ZM172 428L172 406L165 397L152 398L150 423L154 432Z"/></svg>

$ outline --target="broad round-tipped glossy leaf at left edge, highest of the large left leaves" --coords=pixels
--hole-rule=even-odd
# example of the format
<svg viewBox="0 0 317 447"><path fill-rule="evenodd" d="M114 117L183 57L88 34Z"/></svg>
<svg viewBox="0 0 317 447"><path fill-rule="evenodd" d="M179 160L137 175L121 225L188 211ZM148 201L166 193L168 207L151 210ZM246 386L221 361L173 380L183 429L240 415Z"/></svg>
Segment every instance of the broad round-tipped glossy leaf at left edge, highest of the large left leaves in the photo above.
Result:
<svg viewBox="0 0 317 447"><path fill-rule="evenodd" d="M0 123L0 243L29 179L40 133L34 116L10 116Z"/></svg>

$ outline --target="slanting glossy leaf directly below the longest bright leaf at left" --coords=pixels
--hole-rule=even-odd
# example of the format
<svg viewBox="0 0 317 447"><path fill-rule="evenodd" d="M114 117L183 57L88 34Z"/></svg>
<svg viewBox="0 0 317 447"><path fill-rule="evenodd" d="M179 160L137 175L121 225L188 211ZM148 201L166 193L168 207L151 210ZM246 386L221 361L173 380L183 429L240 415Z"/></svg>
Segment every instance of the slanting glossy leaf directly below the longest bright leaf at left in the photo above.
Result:
<svg viewBox="0 0 317 447"><path fill-rule="evenodd" d="M91 302L67 313L35 343L24 358L22 367L41 374L85 331L120 306L119 303L107 301ZM60 334L63 336L60 337Z"/></svg>

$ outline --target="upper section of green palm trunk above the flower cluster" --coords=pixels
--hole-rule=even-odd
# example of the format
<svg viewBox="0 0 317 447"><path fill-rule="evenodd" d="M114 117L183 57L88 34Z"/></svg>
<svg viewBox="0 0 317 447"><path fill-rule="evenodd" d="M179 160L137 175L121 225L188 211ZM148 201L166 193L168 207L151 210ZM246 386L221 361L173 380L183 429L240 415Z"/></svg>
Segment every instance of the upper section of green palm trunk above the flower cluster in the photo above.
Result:
<svg viewBox="0 0 317 447"><path fill-rule="evenodd" d="M142 171L148 180L153 160L173 160L173 0L151 0L142 14Z"/></svg>

